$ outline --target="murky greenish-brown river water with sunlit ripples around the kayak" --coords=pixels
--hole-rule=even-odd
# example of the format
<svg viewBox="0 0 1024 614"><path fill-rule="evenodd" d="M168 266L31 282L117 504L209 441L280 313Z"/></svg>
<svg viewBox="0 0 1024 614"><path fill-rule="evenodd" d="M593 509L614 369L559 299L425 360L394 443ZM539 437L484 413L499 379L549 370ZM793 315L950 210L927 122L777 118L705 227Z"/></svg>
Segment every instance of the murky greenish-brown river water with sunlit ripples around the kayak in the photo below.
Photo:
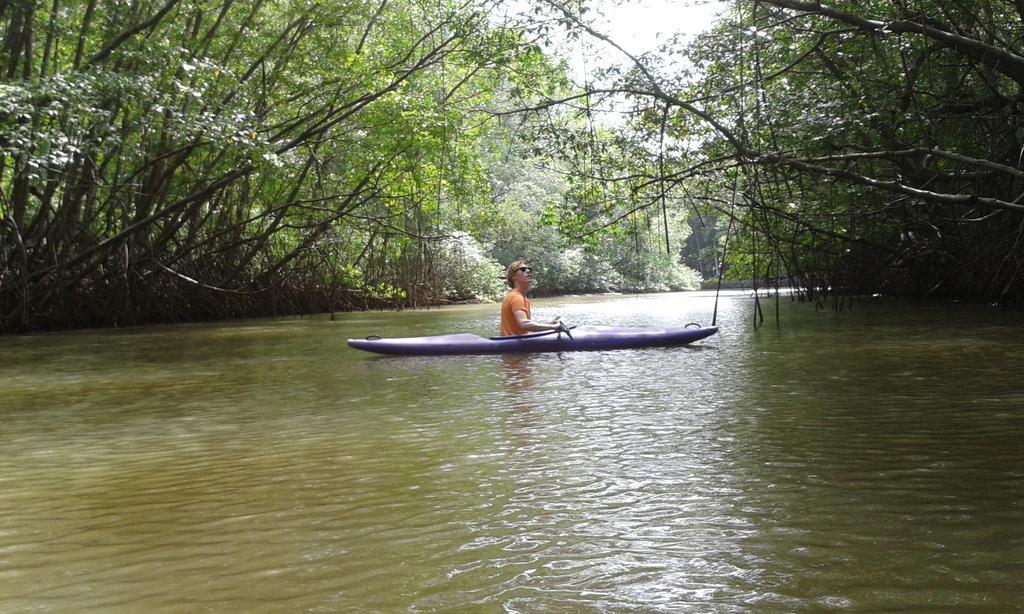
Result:
<svg viewBox="0 0 1024 614"><path fill-rule="evenodd" d="M494 305L0 339L0 612L1020 611L1024 315L752 307L504 357L344 347Z"/></svg>

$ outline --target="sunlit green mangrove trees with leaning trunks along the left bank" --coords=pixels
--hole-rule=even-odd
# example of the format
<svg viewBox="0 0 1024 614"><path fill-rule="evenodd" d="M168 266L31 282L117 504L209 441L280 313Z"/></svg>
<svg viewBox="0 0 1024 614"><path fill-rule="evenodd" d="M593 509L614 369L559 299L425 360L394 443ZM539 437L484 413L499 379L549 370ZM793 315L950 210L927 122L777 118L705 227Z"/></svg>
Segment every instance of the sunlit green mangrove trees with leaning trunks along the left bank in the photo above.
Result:
<svg viewBox="0 0 1024 614"><path fill-rule="evenodd" d="M0 332L496 296L560 254L487 120L564 70L488 8L0 3Z"/></svg>

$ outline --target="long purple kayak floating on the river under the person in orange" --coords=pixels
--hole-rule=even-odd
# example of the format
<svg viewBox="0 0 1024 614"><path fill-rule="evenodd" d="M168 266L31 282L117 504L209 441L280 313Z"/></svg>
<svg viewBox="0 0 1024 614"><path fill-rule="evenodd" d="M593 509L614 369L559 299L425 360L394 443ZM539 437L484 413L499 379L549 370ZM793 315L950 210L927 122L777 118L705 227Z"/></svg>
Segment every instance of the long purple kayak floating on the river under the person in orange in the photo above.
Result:
<svg viewBox="0 0 1024 614"><path fill-rule="evenodd" d="M690 325L674 328L575 326L567 331L549 331L518 337L492 337L489 339L469 333L395 339L371 337L349 339L348 345L357 350L399 356L577 352L684 345L711 337L715 333L718 333L718 326Z"/></svg>

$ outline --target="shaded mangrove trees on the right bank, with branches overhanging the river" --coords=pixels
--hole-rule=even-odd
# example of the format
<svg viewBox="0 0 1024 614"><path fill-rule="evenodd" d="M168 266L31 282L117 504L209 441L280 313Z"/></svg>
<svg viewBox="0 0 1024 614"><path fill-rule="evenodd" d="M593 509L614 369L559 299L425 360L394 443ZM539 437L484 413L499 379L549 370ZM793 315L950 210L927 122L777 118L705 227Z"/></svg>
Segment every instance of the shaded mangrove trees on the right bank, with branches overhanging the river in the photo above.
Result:
<svg viewBox="0 0 1024 614"><path fill-rule="evenodd" d="M731 276L1024 298L1020 2L729 6L696 42L632 56L578 3L545 2L628 59L591 93L631 109L638 148L668 134L668 155L646 157L648 185L734 228Z"/></svg>

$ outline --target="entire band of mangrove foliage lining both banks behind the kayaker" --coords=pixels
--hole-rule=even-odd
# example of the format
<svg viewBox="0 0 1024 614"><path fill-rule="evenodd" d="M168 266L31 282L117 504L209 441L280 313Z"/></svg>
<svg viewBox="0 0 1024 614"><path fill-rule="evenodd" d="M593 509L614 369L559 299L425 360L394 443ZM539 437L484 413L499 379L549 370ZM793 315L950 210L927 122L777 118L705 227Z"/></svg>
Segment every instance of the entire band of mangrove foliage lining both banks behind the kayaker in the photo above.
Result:
<svg viewBox="0 0 1024 614"><path fill-rule="evenodd" d="M0 332L495 298L517 257L694 288L726 235L758 283L1024 298L1019 2L730 6L634 56L577 0L0 2Z"/></svg>

